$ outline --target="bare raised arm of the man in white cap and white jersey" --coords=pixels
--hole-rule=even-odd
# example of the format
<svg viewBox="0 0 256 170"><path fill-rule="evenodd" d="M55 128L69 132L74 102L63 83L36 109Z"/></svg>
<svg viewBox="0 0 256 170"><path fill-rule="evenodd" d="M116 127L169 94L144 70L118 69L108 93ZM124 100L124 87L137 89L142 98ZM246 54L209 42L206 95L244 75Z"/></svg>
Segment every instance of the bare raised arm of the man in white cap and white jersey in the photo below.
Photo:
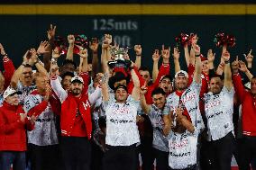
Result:
<svg viewBox="0 0 256 170"><path fill-rule="evenodd" d="M201 83L201 71L202 71L202 63L200 58L200 47L196 45L194 47L195 50L195 56L196 56L196 64L195 64L195 73L194 73L194 79L197 82L197 84Z"/></svg>

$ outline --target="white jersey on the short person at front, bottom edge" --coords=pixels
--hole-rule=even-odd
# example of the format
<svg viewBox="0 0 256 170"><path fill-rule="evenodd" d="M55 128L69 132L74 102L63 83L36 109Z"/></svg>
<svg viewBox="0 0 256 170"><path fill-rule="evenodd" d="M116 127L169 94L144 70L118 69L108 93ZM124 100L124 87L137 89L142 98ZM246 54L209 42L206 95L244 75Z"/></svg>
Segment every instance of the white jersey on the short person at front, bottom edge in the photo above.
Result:
<svg viewBox="0 0 256 170"><path fill-rule="evenodd" d="M197 132L169 133L169 166L185 169L197 164Z"/></svg>

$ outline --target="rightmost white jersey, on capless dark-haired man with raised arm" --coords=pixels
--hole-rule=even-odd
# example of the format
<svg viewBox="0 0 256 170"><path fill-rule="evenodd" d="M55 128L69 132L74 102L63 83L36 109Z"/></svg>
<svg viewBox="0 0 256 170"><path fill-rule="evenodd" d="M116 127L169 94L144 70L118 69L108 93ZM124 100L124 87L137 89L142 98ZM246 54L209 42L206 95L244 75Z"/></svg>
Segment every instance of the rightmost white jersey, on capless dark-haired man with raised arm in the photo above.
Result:
<svg viewBox="0 0 256 170"><path fill-rule="evenodd" d="M225 86L220 94L205 94L205 111L208 127L208 140L222 139L233 132L233 88Z"/></svg>

